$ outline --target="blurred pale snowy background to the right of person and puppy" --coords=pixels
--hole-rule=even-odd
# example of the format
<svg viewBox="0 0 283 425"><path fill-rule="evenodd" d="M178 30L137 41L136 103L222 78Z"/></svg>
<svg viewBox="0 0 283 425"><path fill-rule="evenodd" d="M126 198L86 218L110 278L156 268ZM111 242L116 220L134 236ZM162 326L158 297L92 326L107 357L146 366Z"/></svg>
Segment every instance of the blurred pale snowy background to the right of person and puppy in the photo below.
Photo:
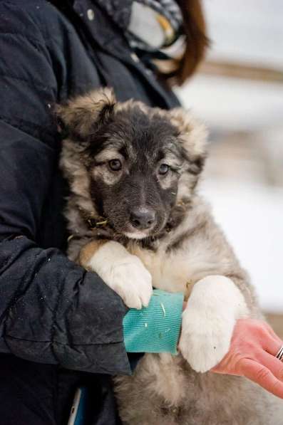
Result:
<svg viewBox="0 0 283 425"><path fill-rule="evenodd" d="M283 337L283 1L202 3L211 48L177 94L210 130L201 191Z"/></svg>

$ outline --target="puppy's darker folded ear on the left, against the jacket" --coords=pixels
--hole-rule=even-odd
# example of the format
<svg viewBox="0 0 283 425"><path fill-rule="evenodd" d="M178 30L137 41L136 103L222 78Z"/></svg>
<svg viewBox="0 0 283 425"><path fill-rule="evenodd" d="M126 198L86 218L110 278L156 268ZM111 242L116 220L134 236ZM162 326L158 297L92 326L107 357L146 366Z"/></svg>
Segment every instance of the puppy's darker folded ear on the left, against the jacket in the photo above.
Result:
<svg viewBox="0 0 283 425"><path fill-rule="evenodd" d="M57 105L56 115L62 137L84 141L106 122L113 112L116 100L113 90L103 88Z"/></svg>

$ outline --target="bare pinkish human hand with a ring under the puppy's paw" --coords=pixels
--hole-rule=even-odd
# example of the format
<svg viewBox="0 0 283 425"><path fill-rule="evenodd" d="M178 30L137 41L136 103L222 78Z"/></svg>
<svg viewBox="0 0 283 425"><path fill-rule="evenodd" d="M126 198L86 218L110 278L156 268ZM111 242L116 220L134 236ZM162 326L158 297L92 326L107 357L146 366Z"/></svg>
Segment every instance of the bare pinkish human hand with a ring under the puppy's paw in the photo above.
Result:
<svg viewBox="0 0 283 425"><path fill-rule="evenodd" d="M243 376L283 399L283 342L262 320L237 320L230 350L211 372Z"/></svg>

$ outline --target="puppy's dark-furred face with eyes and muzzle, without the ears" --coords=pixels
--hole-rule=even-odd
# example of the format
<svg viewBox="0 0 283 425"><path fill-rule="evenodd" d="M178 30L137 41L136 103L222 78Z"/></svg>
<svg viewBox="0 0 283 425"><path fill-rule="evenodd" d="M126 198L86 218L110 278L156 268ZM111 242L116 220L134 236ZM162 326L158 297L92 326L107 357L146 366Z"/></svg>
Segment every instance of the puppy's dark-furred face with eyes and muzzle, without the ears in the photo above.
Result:
<svg viewBox="0 0 283 425"><path fill-rule="evenodd" d="M177 129L133 105L120 110L88 145L91 196L115 231L145 238L163 229L184 163Z"/></svg>

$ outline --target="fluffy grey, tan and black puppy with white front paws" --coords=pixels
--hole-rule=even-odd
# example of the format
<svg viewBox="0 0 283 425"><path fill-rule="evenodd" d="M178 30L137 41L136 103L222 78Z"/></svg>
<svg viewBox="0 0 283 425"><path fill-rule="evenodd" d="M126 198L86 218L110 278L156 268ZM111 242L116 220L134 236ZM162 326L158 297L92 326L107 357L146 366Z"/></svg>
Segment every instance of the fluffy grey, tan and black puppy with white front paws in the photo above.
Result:
<svg viewBox="0 0 283 425"><path fill-rule="evenodd" d="M115 379L129 425L279 424L280 400L242 377L207 372L238 318L261 318L254 291L196 186L206 130L188 112L117 103L108 90L58 107L68 137L68 254L132 308L152 287L185 293L180 354L146 354ZM207 373L200 373L207 372Z"/></svg>

